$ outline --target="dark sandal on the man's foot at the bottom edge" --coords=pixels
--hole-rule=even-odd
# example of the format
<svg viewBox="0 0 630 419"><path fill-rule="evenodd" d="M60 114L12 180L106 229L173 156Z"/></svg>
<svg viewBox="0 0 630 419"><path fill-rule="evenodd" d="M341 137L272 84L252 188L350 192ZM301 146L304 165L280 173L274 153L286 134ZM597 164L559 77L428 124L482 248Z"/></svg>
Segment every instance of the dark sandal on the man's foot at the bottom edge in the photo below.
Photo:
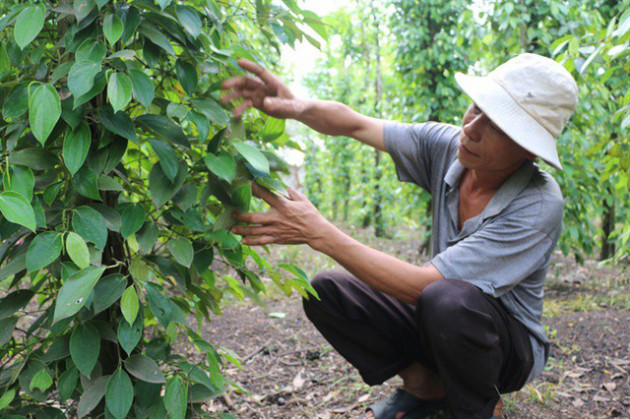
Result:
<svg viewBox="0 0 630 419"><path fill-rule="evenodd" d="M372 411L374 419L394 419L399 412L405 412L404 419L419 419L435 415L446 408L446 399L421 400L402 388L385 400L374 403L366 410ZM361 416L365 418L365 414Z"/></svg>

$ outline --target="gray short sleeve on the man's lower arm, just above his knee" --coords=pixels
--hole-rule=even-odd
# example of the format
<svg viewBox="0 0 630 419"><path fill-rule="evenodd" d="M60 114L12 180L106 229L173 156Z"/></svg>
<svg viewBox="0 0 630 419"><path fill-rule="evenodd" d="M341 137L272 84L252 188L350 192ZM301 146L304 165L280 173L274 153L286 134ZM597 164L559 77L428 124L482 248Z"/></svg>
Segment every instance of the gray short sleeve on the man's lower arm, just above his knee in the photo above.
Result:
<svg viewBox="0 0 630 419"><path fill-rule="evenodd" d="M490 223L447 248L431 263L446 279L461 279L500 297L544 268L555 242L516 218Z"/></svg>

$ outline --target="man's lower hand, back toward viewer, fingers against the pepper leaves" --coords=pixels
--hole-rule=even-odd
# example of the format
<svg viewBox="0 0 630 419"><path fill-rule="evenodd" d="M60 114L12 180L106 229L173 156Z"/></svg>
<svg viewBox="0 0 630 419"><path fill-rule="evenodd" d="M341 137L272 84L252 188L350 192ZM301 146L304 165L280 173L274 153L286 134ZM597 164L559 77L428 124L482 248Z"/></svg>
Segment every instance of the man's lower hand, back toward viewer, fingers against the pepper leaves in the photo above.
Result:
<svg viewBox="0 0 630 419"><path fill-rule="evenodd" d="M289 199L274 195L257 184L252 184L254 196L269 204L265 213L242 214L234 212L236 221L254 225L235 225L231 231L243 236L243 244L308 244L317 247L326 237L328 221L319 213L308 198L293 188L288 188Z"/></svg>

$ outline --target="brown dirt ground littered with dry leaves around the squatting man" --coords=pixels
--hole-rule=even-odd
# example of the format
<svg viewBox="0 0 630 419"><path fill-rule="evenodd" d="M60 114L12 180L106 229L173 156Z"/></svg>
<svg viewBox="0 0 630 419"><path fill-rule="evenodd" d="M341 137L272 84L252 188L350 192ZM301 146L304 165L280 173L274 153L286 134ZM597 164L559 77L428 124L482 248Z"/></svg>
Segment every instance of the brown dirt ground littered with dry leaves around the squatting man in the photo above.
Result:
<svg viewBox="0 0 630 419"><path fill-rule="evenodd" d="M350 233L412 263L426 261L412 234L377 242L369 231ZM306 246L274 247L272 259L311 276L336 267ZM504 396L504 418L630 418L628 275L627 267L580 266L554 256L543 321L551 358L541 376ZM306 319L300 297L287 298L273 285L264 306L235 301L204 326L204 335L242 359L242 368L225 372L246 393L233 389L211 400L205 407L217 417L355 418L400 385L398 378L362 383Z"/></svg>

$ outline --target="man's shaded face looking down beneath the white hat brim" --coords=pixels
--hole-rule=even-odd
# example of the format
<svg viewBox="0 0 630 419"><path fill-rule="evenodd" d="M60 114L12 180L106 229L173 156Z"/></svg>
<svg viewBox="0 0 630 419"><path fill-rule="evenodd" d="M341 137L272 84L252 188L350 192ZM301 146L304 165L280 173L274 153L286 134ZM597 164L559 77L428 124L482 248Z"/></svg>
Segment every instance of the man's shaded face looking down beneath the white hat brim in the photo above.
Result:
<svg viewBox="0 0 630 419"><path fill-rule="evenodd" d="M467 169L506 171L534 155L512 141L473 103L464 114L457 158Z"/></svg>

